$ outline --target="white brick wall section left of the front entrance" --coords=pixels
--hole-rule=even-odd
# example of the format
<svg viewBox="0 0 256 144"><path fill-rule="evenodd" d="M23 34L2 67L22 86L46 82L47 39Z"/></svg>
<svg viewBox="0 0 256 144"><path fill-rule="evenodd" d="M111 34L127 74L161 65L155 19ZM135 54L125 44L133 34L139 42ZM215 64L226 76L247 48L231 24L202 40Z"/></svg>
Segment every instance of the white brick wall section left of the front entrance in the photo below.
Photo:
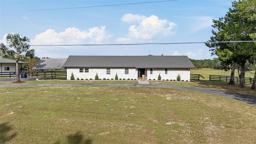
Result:
<svg viewBox="0 0 256 144"><path fill-rule="evenodd" d="M116 73L119 78L128 78L137 79L138 78L138 70L136 68L128 68L129 74L124 74L125 68L110 68L110 74L107 74L107 68L89 68L89 72L79 72L80 68L67 68L67 79L70 80L71 74L73 72L75 80L79 78L83 78L84 80L87 78L88 80L92 78L95 79L96 73L98 74L99 79L103 80L103 78L115 79Z"/></svg>

